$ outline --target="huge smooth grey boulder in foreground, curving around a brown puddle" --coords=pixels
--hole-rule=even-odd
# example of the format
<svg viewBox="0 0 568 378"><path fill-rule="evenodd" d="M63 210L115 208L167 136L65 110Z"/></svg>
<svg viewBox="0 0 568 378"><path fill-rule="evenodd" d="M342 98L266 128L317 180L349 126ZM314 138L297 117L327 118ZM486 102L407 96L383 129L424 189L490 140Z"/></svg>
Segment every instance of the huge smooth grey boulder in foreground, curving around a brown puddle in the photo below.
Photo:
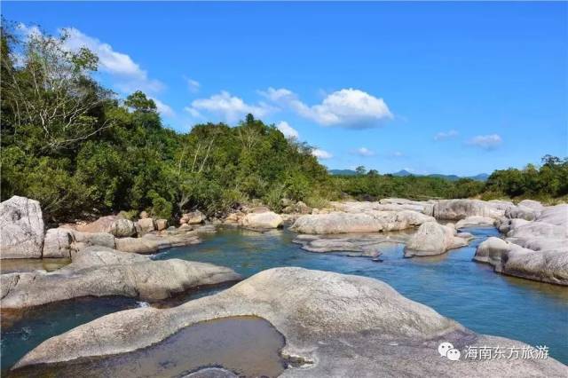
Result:
<svg viewBox="0 0 568 378"><path fill-rule="evenodd" d="M146 307L106 315L43 342L21 358L16 368L28 366L22 374L33 373L35 366L39 372L51 368L57 375L58 368L84 361L93 375L114 376L128 371L128 366L109 364L113 355L159 346L184 327L205 320L250 314L269 321L284 336L283 358L304 362L305 366L288 368L282 376L568 374L568 368L554 358L466 358L467 347L530 347L469 331L430 307L399 295L382 281L302 268L259 272L216 295L170 309ZM442 342L452 343L462 358L440 357L438 345ZM63 365L51 365L58 363ZM148 358L135 363L158 361Z"/></svg>

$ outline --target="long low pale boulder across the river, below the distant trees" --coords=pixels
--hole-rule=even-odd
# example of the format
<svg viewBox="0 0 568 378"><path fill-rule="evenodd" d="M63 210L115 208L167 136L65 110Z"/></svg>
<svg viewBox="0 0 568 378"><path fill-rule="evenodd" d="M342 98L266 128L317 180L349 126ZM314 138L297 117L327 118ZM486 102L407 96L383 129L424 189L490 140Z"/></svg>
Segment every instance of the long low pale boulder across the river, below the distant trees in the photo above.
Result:
<svg viewBox="0 0 568 378"><path fill-rule="evenodd" d="M292 230L314 234L400 231L432 220L434 218L412 210L333 212L299 217Z"/></svg>

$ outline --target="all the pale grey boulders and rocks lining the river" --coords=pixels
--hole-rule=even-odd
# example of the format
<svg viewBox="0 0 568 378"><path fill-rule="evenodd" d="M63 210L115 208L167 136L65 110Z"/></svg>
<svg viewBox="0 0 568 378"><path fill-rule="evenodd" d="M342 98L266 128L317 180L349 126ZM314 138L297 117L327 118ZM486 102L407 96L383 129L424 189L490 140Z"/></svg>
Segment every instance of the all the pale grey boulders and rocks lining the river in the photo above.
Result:
<svg viewBox="0 0 568 378"><path fill-rule="evenodd" d="M306 251L339 252L376 261L381 261L385 245L404 245L406 257L441 256L448 250L467 246L472 240L470 233L462 232L463 227L494 225L504 232L504 240L490 238L481 243L474 260L492 264L495 272L568 285L566 205L544 207L536 201L515 205L505 201L386 199L332 202L328 209L306 209L300 205L289 208L302 212L278 215L266 208L245 209L213 223L235 224L261 232L288 223L291 230L300 232L295 242ZM53 272L2 274L3 309L26 309L85 296L122 295L153 301L193 287L241 279L233 270L213 264L175 259L154 261L142 256L199 243L200 234L215 232L215 225L201 225L206 219L200 212L182 217L178 228L141 214L137 222L118 215L102 217L90 224L65 224L45 232L41 207L36 201L13 197L0 204L0 210L2 258L57 257L71 262ZM503 368L512 372L512 366L516 372L528 375L566 373L565 366L552 359L537 364L495 361L448 366L444 360L440 365L439 361L426 358L427 350L440 337L450 340L461 352L466 346L481 343L523 345L477 335L426 306L414 303L418 306L414 307L390 287L381 286L384 284L380 281L365 279L353 283L353 280L349 276L297 269L261 272L209 299L191 301L175 309L125 311L95 320L71 333L51 338L28 353L18 366L24 369L21 373L34 371L37 364L67 364L89 356L104 359L110 354L128 354L146 348L149 345L146 343L162 343L170 335L202 320L254 314L269 321L286 337L287 344L281 352L285 359L304 361L310 366L305 370L288 369L284 372L288 375L348 372L357 372L359 376L377 372L405 375L426 371L449 376L455 368L460 374L471 375L492 374ZM336 287L324 290L321 285ZM280 298L287 295L280 293L279 287L288 287L288 298ZM352 301L357 298L360 303L355 305ZM382 298L381 303L376 298ZM288 301L304 303L300 306ZM201 303L206 310L191 303ZM335 303L341 316L352 323L343 324L343 319L332 315L324 303ZM127 312L128 315L122 315ZM160 326L140 328L138 323L146 322L148 316L160 319ZM390 324L394 319L402 320L396 331L394 323ZM338 327L341 335L335 335L334 331L319 335L320 329L329 327ZM118 328L125 330L120 340L111 335ZM91 340L83 340L87 335L84 332L90 335L95 332L95 339L102 347L91 347ZM323 344L319 343L322 340ZM391 343L397 348L390 348L394 346ZM366 367L355 366L350 358L343 358L345 350L349 350L351 357L364 359ZM394 363L396 359L404 359L410 350L423 355L425 360L409 365Z"/></svg>

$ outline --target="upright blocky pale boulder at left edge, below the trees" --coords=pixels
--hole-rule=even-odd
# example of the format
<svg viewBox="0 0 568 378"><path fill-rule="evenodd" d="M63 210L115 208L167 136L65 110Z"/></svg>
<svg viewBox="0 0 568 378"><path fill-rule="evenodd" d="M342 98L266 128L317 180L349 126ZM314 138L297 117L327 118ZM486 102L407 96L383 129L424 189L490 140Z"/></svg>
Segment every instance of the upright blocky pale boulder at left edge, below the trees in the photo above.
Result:
<svg viewBox="0 0 568 378"><path fill-rule="evenodd" d="M0 258L39 258L43 217L38 201L13 196L0 203Z"/></svg>

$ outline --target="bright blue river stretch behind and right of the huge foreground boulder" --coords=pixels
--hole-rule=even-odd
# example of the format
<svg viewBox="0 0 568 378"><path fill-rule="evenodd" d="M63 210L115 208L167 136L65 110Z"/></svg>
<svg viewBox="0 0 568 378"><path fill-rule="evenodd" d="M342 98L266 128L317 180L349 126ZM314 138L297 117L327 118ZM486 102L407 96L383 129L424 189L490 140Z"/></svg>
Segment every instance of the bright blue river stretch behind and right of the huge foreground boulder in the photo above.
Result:
<svg viewBox="0 0 568 378"><path fill-rule="evenodd" d="M309 253L293 232L225 230L197 246L171 248L157 259L181 258L225 265L248 277L278 266L358 274L383 280L414 301L434 308L477 333L547 345L568 364L568 288L503 276L471 261L492 228L469 228L477 239L443 256L403 258L403 246L383 250L383 262L366 257Z"/></svg>

